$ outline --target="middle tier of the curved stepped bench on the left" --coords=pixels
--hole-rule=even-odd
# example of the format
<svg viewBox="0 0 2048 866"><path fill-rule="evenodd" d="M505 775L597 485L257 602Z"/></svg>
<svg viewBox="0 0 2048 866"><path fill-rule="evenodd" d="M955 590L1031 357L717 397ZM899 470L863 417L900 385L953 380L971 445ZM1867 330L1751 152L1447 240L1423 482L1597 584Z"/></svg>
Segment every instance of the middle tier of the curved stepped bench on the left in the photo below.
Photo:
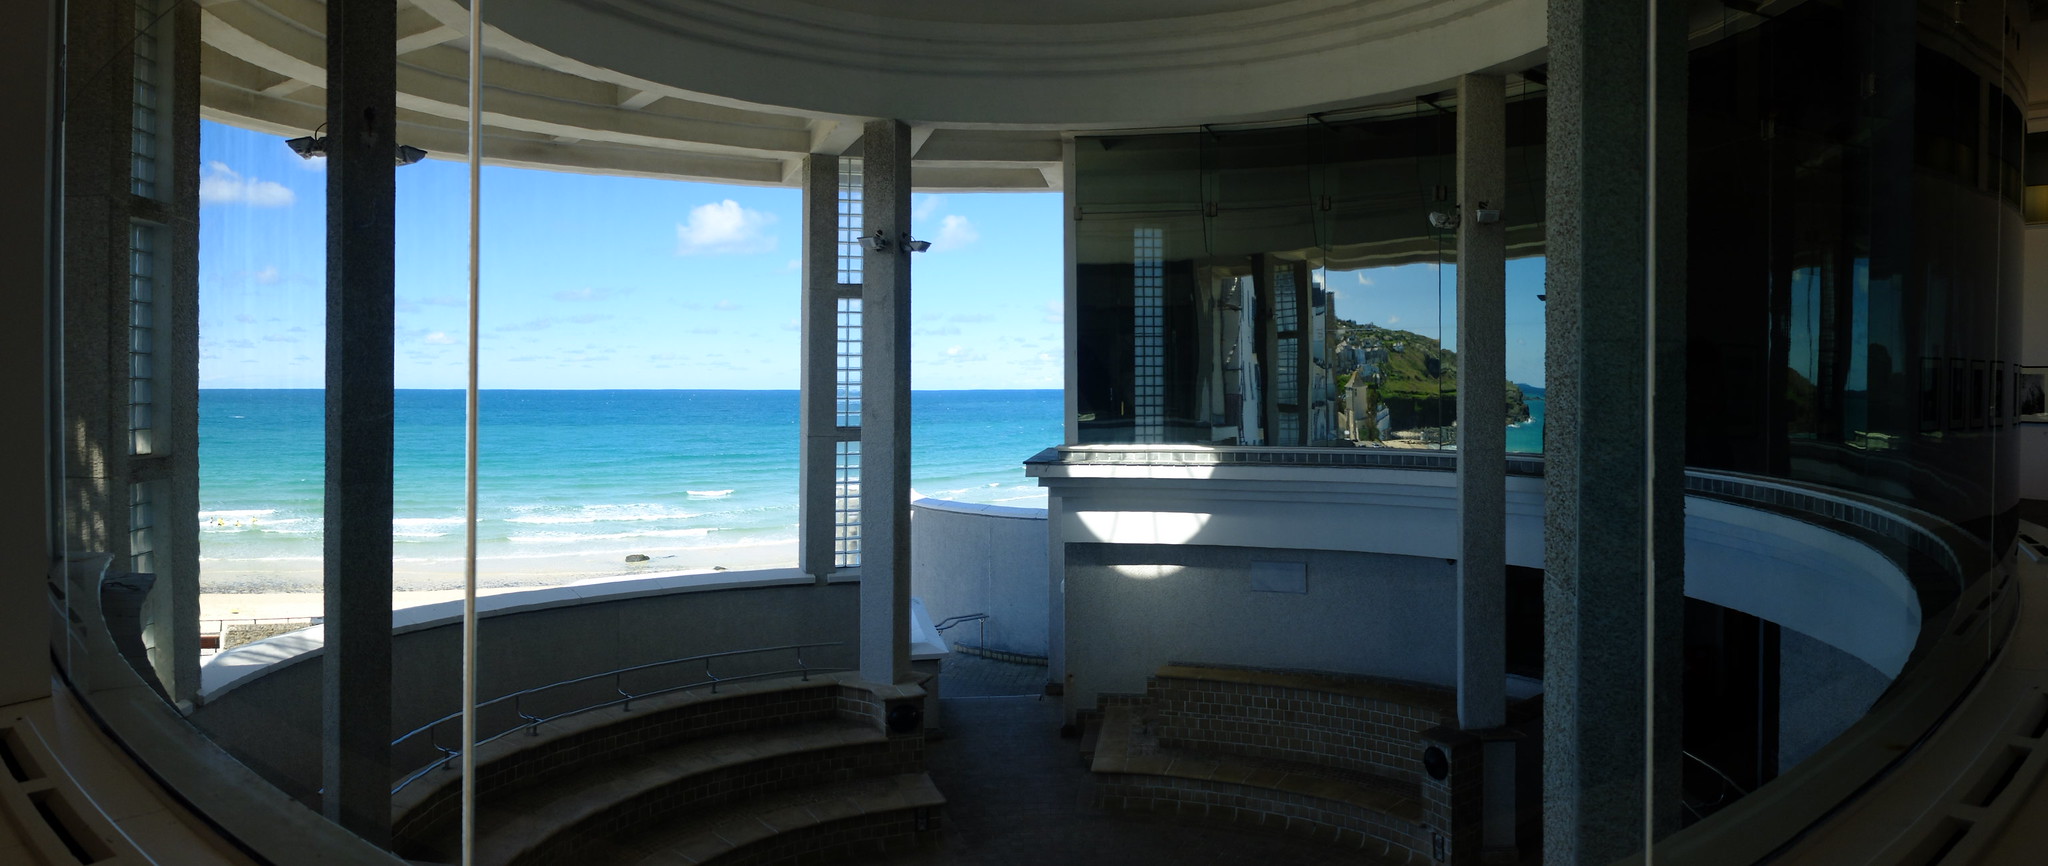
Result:
<svg viewBox="0 0 2048 866"><path fill-rule="evenodd" d="M477 805L477 862L555 862L590 839L629 833L694 809L774 794L791 786L856 780L901 766L922 766L915 741L889 741L881 731L848 721L811 721L692 739L571 770L485 796ZM399 854L455 862L459 825L442 821ZM569 856L561 862L596 862Z"/></svg>

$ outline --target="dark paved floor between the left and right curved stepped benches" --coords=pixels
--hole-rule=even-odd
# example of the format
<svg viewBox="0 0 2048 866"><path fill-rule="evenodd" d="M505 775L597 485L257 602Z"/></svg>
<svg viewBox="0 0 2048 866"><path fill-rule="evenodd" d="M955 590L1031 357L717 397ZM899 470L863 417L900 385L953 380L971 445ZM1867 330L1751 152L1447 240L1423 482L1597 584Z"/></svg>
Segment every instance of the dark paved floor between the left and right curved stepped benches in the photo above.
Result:
<svg viewBox="0 0 2048 866"><path fill-rule="evenodd" d="M956 655L954 659L961 659ZM961 674L958 688L952 676ZM977 688L1042 690L1044 667L971 659L944 674L946 737L926 743L926 764L946 794L936 848L868 860L887 866L1196 866L1196 864L1399 864L1307 839L1204 827L1087 805L1079 741L1059 737L1059 698L967 696Z"/></svg>

